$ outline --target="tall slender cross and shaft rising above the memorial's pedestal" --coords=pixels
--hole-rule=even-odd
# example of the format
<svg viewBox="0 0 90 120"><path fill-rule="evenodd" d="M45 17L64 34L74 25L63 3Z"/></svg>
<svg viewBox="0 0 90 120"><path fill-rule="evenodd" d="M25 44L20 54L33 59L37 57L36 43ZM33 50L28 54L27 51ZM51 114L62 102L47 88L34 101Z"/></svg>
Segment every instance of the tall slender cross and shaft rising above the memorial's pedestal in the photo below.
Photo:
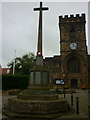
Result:
<svg viewBox="0 0 90 120"><path fill-rule="evenodd" d="M48 10L48 7L42 7L42 2L40 2L40 8L34 8L34 11L39 11L37 56L42 56L42 11L44 10Z"/></svg>

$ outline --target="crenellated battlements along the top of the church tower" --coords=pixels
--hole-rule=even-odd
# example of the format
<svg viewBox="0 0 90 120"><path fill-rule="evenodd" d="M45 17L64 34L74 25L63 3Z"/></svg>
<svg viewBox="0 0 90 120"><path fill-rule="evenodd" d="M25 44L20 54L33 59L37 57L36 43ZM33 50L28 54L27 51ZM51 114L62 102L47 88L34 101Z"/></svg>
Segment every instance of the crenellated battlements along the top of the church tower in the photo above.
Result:
<svg viewBox="0 0 90 120"><path fill-rule="evenodd" d="M85 22L85 13L83 14L71 14L70 16L64 15L64 16L59 16L59 23L64 23L64 22Z"/></svg>

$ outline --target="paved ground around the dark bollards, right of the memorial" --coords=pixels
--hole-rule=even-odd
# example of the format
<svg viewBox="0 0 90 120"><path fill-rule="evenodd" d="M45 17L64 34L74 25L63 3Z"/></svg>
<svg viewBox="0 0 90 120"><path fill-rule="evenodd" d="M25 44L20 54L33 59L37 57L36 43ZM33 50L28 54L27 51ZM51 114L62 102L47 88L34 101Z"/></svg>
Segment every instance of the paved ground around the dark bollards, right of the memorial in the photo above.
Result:
<svg viewBox="0 0 90 120"><path fill-rule="evenodd" d="M88 91L87 90L76 90L73 94L73 108L76 111L76 97L79 98L79 115L83 117L88 117ZM63 97L63 95L59 95ZM66 94L65 97L68 103L71 105L71 94Z"/></svg>

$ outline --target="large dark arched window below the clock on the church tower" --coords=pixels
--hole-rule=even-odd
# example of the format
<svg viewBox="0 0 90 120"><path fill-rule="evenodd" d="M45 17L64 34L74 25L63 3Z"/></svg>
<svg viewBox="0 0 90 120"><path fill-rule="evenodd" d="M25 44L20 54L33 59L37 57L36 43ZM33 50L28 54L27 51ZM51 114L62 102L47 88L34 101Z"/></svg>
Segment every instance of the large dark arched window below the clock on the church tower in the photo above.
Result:
<svg viewBox="0 0 90 120"><path fill-rule="evenodd" d="M70 73L80 72L80 62L76 57L72 57L69 59L67 63L67 70Z"/></svg>

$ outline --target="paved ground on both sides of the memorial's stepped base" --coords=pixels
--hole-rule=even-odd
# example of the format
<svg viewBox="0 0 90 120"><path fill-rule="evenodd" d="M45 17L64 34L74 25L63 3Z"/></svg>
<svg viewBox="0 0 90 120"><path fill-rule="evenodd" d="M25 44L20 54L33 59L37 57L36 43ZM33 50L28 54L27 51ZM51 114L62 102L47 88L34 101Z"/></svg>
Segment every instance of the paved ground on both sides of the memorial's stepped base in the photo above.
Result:
<svg viewBox="0 0 90 120"><path fill-rule="evenodd" d="M0 93L0 97L1 97L1 93ZM90 93L88 94L87 90L76 90L76 93L73 94L73 108L75 109L75 113L72 115L66 115L66 116L62 116L61 118L57 118L54 120L64 120L65 118L67 118L67 120L71 120L71 118L79 118L82 120L87 120L88 118L88 96L90 95ZM3 94L2 96L2 100L0 99L0 112L1 112L1 105L7 104L7 100L8 98L11 97L15 97L15 96L9 96L7 93ZM64 97L63 94L60 94L59 97ZM79 97L79 115L76 114L76 97ZM68 101L68 103L71 105L71 94L66 94L65 97ZM2 104L1 104L2 103ZM90 103L89 103L90 105ZM2 116L2 113L0 113L0 118ZM77 119L77 120L79 120Z"/></svg>

